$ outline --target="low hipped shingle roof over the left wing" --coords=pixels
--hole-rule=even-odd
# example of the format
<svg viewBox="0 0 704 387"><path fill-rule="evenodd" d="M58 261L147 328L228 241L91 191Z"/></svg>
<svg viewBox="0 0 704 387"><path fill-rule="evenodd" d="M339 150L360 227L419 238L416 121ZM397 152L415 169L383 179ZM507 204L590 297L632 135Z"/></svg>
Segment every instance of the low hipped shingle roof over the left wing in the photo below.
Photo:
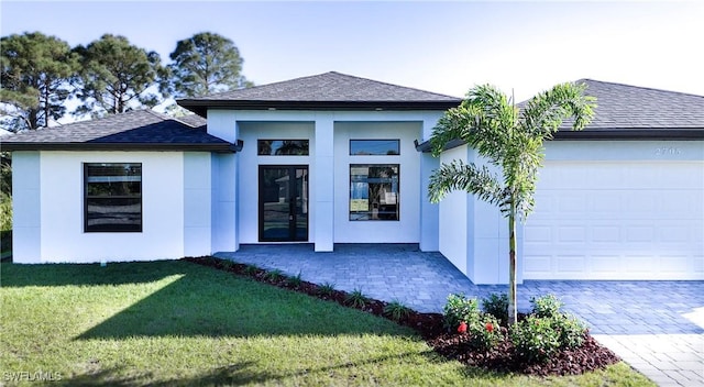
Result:
<svg viewBox="0 0 704 387"><path fill-rule="evenodd" d="M202 121L202 120L200 120ZM230 143L152 110L135 110L61 128L24 131L0 141L2 151L113 150L232 152Z"/></svg>

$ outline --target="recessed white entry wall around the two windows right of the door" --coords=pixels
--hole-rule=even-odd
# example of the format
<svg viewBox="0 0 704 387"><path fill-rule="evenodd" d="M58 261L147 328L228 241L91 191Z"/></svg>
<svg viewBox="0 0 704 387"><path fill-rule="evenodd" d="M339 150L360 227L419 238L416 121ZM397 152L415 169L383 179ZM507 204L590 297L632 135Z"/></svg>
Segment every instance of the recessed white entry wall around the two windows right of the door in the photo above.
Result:
<svg viewBox="0 0 704 387"><path fill-rule="evenodd" d="M414 140L419 122L334 123L334 242L418 243L420 241L420 153ZM400 140L400 155L351 156L350 140ZM350 164L399 164L399 220L350 221Z"/></svg>

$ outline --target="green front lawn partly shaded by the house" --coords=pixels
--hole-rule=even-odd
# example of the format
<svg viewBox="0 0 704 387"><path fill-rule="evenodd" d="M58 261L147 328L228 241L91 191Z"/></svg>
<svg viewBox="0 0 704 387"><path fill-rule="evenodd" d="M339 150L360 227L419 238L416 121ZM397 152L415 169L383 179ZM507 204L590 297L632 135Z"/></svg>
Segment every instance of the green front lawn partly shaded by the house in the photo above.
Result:
<svg viewBox="0 0 704 387"><path fill-rule="evenodd" d="M388 320L183 261L2 264L0 284L7 385L36 385L11 380L23 372L52 386L648 383L624 364L544 379L464 367Z"/></svg>

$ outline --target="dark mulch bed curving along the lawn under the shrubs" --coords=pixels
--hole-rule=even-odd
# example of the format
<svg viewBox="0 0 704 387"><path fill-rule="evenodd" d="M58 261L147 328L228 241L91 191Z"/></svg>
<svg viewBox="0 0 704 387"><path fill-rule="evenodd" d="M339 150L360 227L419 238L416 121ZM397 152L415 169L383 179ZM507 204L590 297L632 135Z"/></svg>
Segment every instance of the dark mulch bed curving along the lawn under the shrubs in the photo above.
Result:
<svg viewBox="0 0 704 387"><path fill-rule="evenodd" d="M184 259L241 276L248 276L261 283L304 292L322 300L338 302L345 307L353 307L349 300L350 295L345 291L322 291L319 285L309 281L297 280L296 278L279 275L274 272L266 272L251 265L209 256L186 257ZM470 336L468 334L448 332L443 327L442 314L420 313L409 310L406 316L394 320L389 313L385 313L387 305L385 301L367 299L364 306L359 306L356 309L387 318L402 325L415 329L436 352L470 366L499 373L520 373L537 376L579 375L590 371L603 369L620 361L610 350L597 343L588 332L585 333L585 340L582 346L574 350L564 350L546 363L527 363L522 361L515 355L514 345L510 340L504 340L490 352L481 352L470 346ZM505 328L502 328L502 333L505 338L508 336Z"/></svg>

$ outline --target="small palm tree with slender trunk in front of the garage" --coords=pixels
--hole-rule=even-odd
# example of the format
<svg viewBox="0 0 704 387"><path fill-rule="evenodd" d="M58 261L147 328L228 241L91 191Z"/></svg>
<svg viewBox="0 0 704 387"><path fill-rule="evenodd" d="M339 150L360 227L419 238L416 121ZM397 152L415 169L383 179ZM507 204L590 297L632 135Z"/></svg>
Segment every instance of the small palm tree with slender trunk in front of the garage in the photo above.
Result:
<svg viewBox="0 0 704 387"><path fill-rule="evenodd" d="M433 129L430 144L437 157L451 141L461 140L476 150L486 165L452 161L430 177L428 197L439 202L452 190L465 190L498 206L509 229L508 321L516 323L516 218L525 221L534 207L538 169L544 158L542 142L551 140L565 119L572 129L587 125L596 107L584 96L585 85L561 84L531 98L520 109L496 88L472 88L466 99L450 109Z"/></svg>

